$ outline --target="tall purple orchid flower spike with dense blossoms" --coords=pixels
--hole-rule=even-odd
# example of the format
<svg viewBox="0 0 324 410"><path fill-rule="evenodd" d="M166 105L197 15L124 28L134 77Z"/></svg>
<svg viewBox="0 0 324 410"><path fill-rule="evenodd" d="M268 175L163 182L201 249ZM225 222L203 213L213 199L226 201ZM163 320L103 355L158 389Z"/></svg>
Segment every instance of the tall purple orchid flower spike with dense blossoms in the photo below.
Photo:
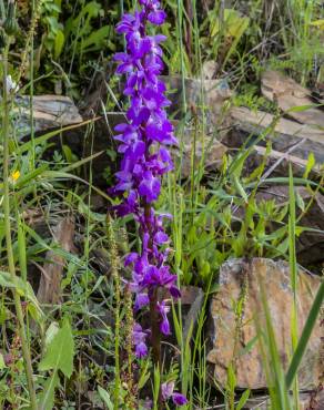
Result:
<svg viewBox="0 0 324 410"><path fill-rule="evenodd" d="M170 147L178 146L173 125L168 120L165 109L170 101L165 96L165 84L159 79L163 71L161 43L164 35L149 35L146 27L160 27L166 19L158 0L139 0L140 8L134 13L125 13L117 25L117 32L124 34L126 48L118 52L117 74L125 75L123 94L129 98L126 123L115 127L114 140L122 155L120 171L115 174L117 184L111 189L120 197L114 206L118 216L132 214L139 224L141 250L125 257L125 266L132 269L129 286L135 294L134 310L149 309L150 330L139 324L133 328L135 356L141 359L149 353L146 341L151 340L153 361L161 369L161 335L170 335L168 319L170 306L160 300L159 295L166 289L172 298L179 298L176 276L170 271L168 255L170 238L164 230L163 221L170 215L156 214L153 205L161 193L161 178L173 170ZM170 387L169 387L170 388ZM161 386L160 408L166 394ZM168 394L166 394L168 396ZM176 406L185 398L172 392Z"/></svg>

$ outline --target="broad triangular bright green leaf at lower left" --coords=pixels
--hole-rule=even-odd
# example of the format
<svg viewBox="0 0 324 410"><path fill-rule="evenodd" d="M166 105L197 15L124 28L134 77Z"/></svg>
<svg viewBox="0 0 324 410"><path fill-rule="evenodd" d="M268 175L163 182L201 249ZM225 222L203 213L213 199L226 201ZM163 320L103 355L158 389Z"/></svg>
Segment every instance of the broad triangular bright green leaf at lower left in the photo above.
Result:
<svg viewBox="0 0 324 410"><path fill-rule="evenodd" d="M44 358L39 365L39 370L61 370L68 378L73 371L74 341L72 329L64 320L61 329L55 334L47 348Z"/></svg>

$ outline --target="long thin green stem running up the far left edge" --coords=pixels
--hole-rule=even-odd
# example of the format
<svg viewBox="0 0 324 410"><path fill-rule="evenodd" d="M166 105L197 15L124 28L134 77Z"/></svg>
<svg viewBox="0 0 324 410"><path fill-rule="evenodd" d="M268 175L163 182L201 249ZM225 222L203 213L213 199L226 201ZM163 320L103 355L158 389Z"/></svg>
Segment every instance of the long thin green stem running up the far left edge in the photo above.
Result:
<svg viewBox="0 0 324 410"><path fill-rule="evenodd" d="M24 369L26 376L28 381L28 390L30 394L30 403L31 410L37 410L37 399L36 399L36 390L33 385L32 378L32 366L31 366L31 357L29 350L29 344L26 336L24 329L24 321L23 321L23 312L21 307L21 300L18 289L18 280L16 275L16 267L14 267L14 257L13 257L13 249L12 249L12 239L11 239L11 223L10 223L10 192L9 192L9 133L10 133L10 123L9 123L9 114L10 114L10 105L8 100L8 90L7 90L7 75L8 75L8 52L9 45L6 47L3 53L3 61L2 61L2 72L3 72L3 110L2 110L2 135L3 135L3 216L4 216L4 232L6 232L6 245L7 245L7 257L8 257L8 265L9 271L11 275L12 284L13 284L13 299L14 299L14 307L16 314L18 318L19 325L19 336L21 340L22 347L22 355L24 360Z"/></svg>

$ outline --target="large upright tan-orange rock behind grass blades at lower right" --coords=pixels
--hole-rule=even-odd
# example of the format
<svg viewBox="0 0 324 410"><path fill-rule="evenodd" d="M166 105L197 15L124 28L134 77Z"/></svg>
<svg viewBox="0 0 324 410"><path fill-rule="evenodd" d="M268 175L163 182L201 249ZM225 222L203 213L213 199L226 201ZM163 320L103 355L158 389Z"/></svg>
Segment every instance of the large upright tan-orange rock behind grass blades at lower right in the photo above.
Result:
<svg viewBox="0 0 324 410"><path fill-rule="evenodd" d="M226 370L233 359L234 339L236 334L236 317L233 306L242 295L243 284L247 284L247 296L243 312L241 335L237 340L236 355L236 387L240 389L266 388L262 357L257 342L249 351L244 347L256 336L254 315L260 312L260 278L266 289L273 328L276 336L280 357L284 369L287 369L291 351L291 310L293 294L290 279L290 267L285 262L271 259L233 259L229 260L220 270L220 289L212 296L210 306L210 341L207 362L215 382L225 387ZM320 286L318 277L298 273L298 329L303 329L310 308ZM261 320L263 318L261 317ZM320 322L315 326L310 339L304 359L298 371L301 389L312 389L318 383L323 369L320 363L320 346L323 329Z"/></svg>

